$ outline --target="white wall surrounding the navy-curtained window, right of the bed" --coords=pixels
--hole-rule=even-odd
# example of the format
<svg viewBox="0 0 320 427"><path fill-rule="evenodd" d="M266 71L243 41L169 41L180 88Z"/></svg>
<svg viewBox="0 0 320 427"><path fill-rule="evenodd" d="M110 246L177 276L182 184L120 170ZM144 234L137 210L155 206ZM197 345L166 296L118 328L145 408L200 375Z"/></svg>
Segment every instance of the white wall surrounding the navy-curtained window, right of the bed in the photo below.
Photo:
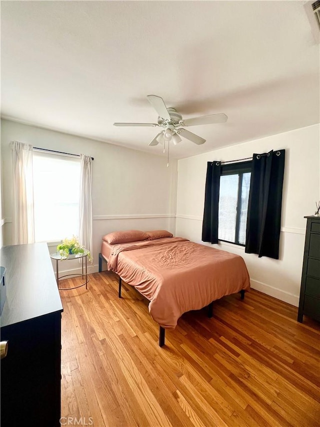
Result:
<svg viewBox="0 0 320 427"><path fill-rule="evenodd" d="M175 234L241 255L252 288L297 306L306 225L303 216L314 214L315 201L320 200L319 141L319 126L314 125L179 160ZM272 149L285 149L279 260L246 254L237 245L201 242L206 163Z"/></svg>

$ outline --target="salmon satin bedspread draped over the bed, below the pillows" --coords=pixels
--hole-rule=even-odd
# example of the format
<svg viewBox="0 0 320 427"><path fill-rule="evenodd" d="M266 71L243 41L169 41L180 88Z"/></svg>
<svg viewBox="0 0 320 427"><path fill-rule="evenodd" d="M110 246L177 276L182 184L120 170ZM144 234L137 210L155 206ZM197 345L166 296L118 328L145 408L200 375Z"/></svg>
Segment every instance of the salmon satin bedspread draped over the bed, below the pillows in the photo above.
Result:
<svg viewBox="0 0 320 427"><path fill-rule="evenodd" d="M186 311L250 287L239 255L181 237L110 246L108 270L150 301L150 315L163 328L174 329ZM103 245L101 251L106 258Z"/></svg>

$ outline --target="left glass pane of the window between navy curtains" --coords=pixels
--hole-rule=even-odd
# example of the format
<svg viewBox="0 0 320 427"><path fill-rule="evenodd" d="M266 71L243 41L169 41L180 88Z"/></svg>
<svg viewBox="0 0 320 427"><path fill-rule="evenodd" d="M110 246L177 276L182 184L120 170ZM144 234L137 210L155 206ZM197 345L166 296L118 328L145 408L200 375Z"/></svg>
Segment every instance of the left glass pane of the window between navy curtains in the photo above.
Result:
<svg viewBox="0 0 320 427"><path fill-rule="evenodd" d="M218 239L234 242L238 175L222 175L219 191Z"/></svg>

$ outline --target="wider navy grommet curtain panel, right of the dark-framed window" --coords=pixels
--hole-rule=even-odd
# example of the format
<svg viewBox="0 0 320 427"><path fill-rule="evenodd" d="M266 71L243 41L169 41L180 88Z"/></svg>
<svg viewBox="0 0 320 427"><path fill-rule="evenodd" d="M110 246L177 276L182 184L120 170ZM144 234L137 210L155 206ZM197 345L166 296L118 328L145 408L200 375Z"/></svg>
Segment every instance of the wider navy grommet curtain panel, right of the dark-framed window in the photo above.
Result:
<svg viewBox="0 0 320 427"><path fill-rule="evenodd" d="M245 252L279 258L284 151L253 154Z"/></svg>

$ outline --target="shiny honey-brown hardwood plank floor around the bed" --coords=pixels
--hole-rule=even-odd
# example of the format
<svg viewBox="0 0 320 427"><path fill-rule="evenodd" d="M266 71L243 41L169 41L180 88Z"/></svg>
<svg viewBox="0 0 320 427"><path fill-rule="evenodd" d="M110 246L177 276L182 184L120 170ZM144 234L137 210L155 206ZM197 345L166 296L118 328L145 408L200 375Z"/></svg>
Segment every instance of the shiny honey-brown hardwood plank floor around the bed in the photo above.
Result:
<svg viewBox="0 0 320 427"><path fill-rule="evenodd" d="M185 313L160 348L147 301L125 283L119 299L117 280L95 273L87 290L60 291L68 425L320 425L318 322L251 290L215 301L211 319Z"/></svg>

